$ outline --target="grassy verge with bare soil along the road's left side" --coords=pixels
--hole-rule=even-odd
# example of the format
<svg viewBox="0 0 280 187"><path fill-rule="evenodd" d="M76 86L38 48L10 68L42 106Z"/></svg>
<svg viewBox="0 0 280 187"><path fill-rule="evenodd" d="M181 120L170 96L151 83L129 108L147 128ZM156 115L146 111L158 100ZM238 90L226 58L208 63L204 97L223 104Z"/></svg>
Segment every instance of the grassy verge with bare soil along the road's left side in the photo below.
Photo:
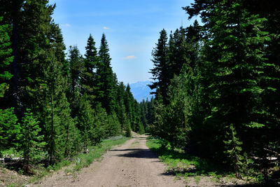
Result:
<svg viewBox="0 0 280 187"><path fill-rule="evenodd" d="M71 175L75 178L83 167L89 167L94 161L102 160L102 155L109 151L112 146L124 144L130 138L118 136L110 137L102 140L96 146L89 146L88 153L79 153L73 158L62 160L55 163L55 165L45 167L43 163L36 165L29 165L32 174L24 175L24 171L17 162L9 162L4 167L1 165L0 171L0 185L1 186L24 186L27 183L34 183L39 181L44 176L54 174L59 169L64 169L66 175ZM8 153L8 152L7 152ZM13 151L15 153L15 151Z"/></svg>

